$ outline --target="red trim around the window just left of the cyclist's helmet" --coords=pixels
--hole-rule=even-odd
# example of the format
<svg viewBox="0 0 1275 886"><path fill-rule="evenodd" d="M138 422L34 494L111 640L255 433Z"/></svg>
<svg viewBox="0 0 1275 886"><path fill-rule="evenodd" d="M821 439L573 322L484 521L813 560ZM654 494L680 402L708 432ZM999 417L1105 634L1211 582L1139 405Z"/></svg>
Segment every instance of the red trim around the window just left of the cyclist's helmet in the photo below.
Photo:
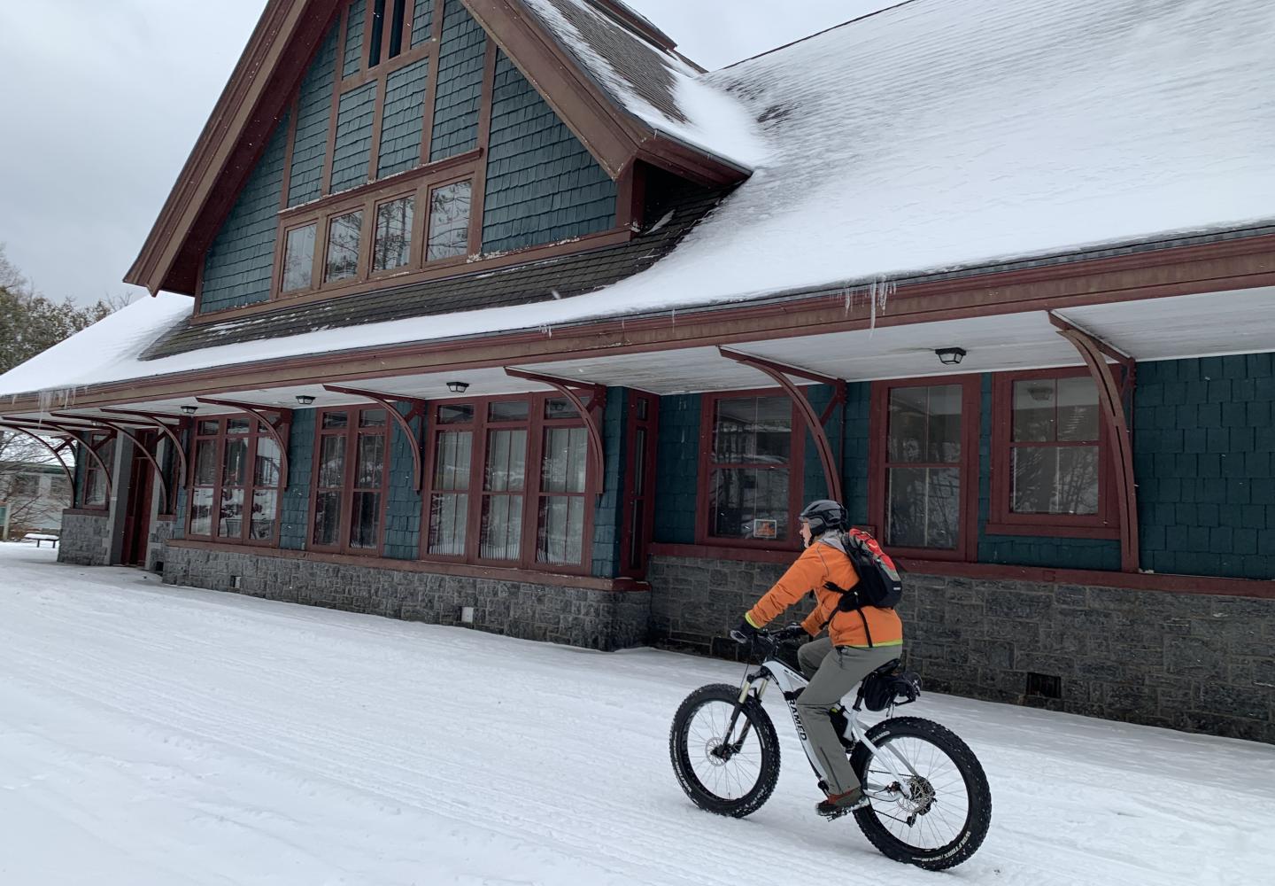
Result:
<svg viewBox="0 0 1275 886"><path fill-rule="evenodd" d="M709 534L709 502L713 461L713 417L720 400L748 400L752 397L782 397L792 407L792 447L788 456L788 539L724 539ZM783 388L747 388L743 391L713 391L700 394L700 454L699 480L695 492L695 544L718 548L742 548L746 550L792 550L802 549L801 532L797 527L797 514L803 507L806 467L806 423L801 410L792 402Z"/></svg>

